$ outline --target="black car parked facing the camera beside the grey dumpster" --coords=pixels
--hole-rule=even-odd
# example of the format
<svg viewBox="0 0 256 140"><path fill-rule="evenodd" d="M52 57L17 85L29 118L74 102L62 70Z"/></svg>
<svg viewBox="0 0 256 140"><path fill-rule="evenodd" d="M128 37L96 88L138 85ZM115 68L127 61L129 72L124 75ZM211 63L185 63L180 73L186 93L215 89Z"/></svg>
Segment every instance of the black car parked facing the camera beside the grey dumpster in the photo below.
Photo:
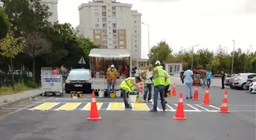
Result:
<svg viewBox="0 0 256 140"><path fill-rule="evenodd" d="M91 70L73 69L66 79L65 92L91 93Z"/></svg>

